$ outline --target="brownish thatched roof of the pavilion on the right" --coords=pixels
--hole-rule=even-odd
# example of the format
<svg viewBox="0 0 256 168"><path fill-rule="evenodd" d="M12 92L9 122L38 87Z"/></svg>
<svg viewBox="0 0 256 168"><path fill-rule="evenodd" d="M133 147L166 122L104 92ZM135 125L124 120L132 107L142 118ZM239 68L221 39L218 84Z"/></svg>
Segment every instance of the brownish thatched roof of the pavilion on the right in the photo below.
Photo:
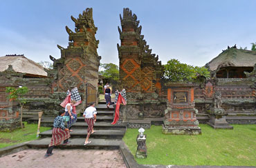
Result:
<svg viewBox="0 0 256 168"><path fill-rule="evenodd" d="M211 71L220 67L254 67L256 63L256 51L229 48L212 59L205 67Z"/></svg>

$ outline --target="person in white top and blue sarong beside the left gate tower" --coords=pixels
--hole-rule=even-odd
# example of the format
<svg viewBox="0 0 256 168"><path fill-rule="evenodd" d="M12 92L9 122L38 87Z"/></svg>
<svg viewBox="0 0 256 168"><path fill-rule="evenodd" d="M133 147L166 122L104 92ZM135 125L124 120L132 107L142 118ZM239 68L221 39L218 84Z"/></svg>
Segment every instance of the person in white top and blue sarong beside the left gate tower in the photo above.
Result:
<svg viewBox="0 0 256 168"><path fill-rule="evenodd" d="M75 124L76 120L77 120L77 114L75 112L73 112L73 105L75 104L75 101L71 101L71 103L67 103L66 107L65 107L65 116L69 116L69 120L66 123L68 129L73 132L73 130L71 129L72 125Z"/></svg>

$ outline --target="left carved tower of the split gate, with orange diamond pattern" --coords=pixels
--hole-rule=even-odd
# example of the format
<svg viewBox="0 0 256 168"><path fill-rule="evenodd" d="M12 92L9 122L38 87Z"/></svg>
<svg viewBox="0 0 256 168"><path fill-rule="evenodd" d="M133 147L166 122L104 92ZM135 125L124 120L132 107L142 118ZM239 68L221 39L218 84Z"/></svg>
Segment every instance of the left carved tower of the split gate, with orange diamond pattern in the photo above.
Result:
<svg viewBox="0 0 256 168"><path fill-rule="evenodd" d="M85 107L89 101L97 102L98 97L100 56L97 53L99 41L95 39L98 28L93 22L92 8L86 8L77 19L72 16L71 19L75 22L75 32L66 26L70 41L68 47L57 45L61 50L60 59L50 56L54 61L53 67L57 70L53 91L66 92L70 87L77 87L82 94L82 107Z"/></svg>

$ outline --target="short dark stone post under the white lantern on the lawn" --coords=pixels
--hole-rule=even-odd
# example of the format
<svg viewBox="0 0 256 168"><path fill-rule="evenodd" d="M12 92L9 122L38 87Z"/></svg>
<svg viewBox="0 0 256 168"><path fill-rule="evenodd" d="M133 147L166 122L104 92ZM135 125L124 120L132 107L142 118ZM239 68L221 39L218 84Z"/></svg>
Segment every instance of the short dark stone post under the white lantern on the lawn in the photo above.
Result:
<svg viewBox="0 0 256 168"><path fill-rule="evenodd" d="M136 158L147 158L146 137L147 135L143 135L143 137L137 136Z"/></svg>

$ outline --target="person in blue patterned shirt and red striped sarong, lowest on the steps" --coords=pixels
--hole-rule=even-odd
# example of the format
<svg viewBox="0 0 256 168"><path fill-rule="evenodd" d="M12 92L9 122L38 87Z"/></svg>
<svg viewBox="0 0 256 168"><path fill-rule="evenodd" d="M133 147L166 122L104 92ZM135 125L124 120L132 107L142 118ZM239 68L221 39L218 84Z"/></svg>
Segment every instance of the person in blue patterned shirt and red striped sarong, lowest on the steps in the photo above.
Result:
<svg viewBox="0 0 256 168"><path fill-rule="evenodd" d="M62 117L64 116L64 114L64 109L61 109L59 112L59 116L57 116L53 122L51 143L49 144L46 154L44 156L46 158L53 155L53 148L57 145L60 145L60 143L62 143L62 140L64 140L63 145L71 143L71 141L68 141L68 138L70 138L69 129L64 126L64 118Z"/></svg>

